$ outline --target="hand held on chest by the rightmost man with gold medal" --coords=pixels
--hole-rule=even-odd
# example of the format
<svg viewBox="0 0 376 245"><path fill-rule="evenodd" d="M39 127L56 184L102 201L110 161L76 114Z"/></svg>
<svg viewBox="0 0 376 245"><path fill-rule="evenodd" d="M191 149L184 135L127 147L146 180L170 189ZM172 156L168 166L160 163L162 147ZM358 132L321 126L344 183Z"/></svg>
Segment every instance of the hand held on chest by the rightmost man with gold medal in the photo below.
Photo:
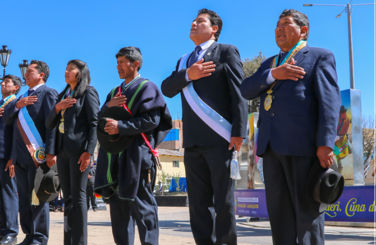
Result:
<svg viewBox="0 0 376 245"><path fill-rule="evenodd" d="M303 75L306 75L306 72L302 67L295 66L296 61L291 59L289 64L283 64L272 69L272 76L276 80L287 80L291 79L298 81L303 78Z"/></svg>

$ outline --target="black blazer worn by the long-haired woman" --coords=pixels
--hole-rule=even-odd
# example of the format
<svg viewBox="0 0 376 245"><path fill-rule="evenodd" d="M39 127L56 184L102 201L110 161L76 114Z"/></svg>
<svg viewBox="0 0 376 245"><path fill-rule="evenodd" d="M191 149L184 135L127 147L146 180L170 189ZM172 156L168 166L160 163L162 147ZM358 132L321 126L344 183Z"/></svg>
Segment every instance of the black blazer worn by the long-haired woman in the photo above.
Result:
<svg viewBox="0 0 376 245"><path fill-rule="evenodd" d="M61 100L56 101L56 104ZM97 144L97 120L99 112L99 96L94 87L85 90L82 97L77 98L76 104L69 107L64 114L64 133L57 129L61 113L53 110L46 119L46 127L56 128L56 140L53 147L55 154L64 149L68 156L88 152L94 153Z"/></svg>

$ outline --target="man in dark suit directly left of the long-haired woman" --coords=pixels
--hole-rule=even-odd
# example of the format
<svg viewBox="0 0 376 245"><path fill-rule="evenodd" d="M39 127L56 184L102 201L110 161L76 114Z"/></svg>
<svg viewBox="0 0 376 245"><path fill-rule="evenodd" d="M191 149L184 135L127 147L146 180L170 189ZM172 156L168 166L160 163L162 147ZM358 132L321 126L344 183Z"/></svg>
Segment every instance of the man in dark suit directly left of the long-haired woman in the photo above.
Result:
<svg viewBox="0 0 376 245"><path fill-rule="evenodd" d="M50 69L46 63L31 61L25 73L26 85L29 86L28 93L10 102L3 114L4 122L14 125L12 159L17 175L19 221L22 231L26 234L21 245L47 245L49 237L49 204L44 202L40 202L39 205L31 204L36 165L17 127L19 111L26 106L45 144L47 164L51 166L56 163L56 156L53 155L55 129L49 130L45 126L46 117L54 107L57 97L57 91L45 85L49 75Z"/></svg>

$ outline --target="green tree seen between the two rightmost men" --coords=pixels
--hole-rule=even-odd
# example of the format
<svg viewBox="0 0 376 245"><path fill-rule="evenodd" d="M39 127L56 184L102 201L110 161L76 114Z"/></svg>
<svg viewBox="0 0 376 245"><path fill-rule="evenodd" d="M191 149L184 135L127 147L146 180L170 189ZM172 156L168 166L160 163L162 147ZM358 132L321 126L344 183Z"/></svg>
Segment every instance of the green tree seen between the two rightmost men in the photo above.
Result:
<svg viewBox="0 0 376 245"><path fill-rule="evenodd" d="M243 71L244 71L244 78L248 78L252 76L260 67L261 62L265 60L265 54L262 54L261 51L258 51L258 55L250 58L245 58L242 60L243 62ZM255 99L252 99L248 102L248 113L258 112L258 105L260 103L260 98L257 97Z"/></svg>

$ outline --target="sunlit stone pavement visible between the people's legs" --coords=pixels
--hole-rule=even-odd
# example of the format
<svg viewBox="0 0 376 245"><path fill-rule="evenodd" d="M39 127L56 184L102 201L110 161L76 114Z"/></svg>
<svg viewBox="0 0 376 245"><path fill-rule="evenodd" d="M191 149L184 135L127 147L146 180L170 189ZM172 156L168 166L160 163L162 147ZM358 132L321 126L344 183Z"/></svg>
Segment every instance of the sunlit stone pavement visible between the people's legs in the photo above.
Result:
<svg viewBox="0 0 376 245"><path fill-rule="evenodd" d="M107 209L109 205L107 204ZM188 207L159 207L159 245L195 244L189 225ZM50 212L49 245L63 245L63 213ZM272 245L272 233L267 219L246 223L245 217L237 218L239 245ZM114 245L110 212L89 211L88 244ZM25 235L20 228L18 243ZM325 245L366 245L374 244L375 230L372 228L352 228L325 226ZM136 234L135 245L140 245Z"/></svg>

